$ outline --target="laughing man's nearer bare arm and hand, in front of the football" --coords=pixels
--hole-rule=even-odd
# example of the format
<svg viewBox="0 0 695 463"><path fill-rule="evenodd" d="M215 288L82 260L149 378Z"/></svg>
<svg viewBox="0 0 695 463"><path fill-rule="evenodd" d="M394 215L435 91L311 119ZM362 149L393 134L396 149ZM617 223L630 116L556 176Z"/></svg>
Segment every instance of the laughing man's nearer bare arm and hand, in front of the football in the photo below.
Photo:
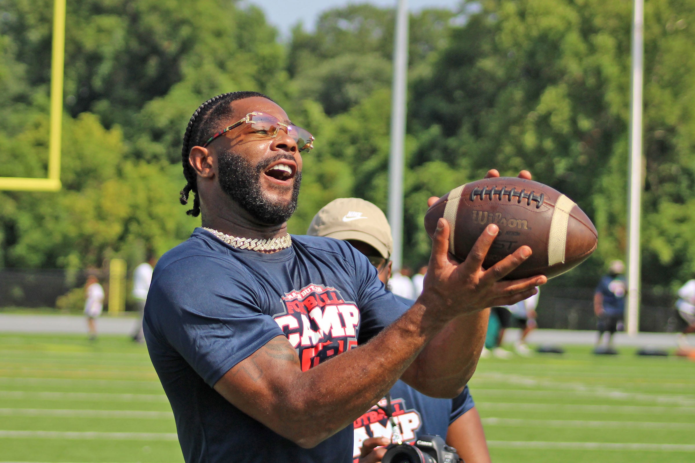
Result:
<svg viewBox="0 0 695 463"><path fill-rule="evenodd" d="M215 390L279 435L305 448L316 446L382 398L439 331L450 329L452 321L459 323L457 317L475 316L482 308L516 303L536 292L544 277L499 281L525 260L528 247L481 269L497 233L497 226L488 226L468 259L451 265L446 257L449 228L440 219L430 260L438 279L430 278L427 295L370 342L302 371L294 348L278 336L225 373Z"/></svg>

